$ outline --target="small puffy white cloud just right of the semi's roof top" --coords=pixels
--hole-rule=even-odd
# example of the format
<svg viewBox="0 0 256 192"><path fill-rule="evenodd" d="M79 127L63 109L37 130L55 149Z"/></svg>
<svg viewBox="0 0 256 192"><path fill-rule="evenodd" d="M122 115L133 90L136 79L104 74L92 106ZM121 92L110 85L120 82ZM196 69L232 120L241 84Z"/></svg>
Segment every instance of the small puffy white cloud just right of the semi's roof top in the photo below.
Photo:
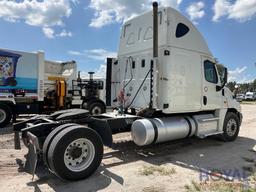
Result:
<svg viewBox="0 0 256 192"><path fill-rule="evenodd" d="M190 19L195 23L196 19L200 19L205 15L203 10L204 3L202 1L194 2L188 6L186 13L189 15Z"/></svg>

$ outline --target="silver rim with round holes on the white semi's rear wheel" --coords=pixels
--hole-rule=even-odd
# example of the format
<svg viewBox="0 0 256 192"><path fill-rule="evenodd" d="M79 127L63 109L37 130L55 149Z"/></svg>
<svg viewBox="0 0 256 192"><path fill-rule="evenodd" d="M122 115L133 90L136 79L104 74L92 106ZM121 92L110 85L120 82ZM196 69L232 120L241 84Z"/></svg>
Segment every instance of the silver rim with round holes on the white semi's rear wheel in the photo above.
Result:
<svg viewBox="0 0 256 192"><path fill-rule="evenodd" d="M73 172L87 169L95 156L95 148L92 142L86 138L80 138L71 142L64 153L64 163Z"/></svg>

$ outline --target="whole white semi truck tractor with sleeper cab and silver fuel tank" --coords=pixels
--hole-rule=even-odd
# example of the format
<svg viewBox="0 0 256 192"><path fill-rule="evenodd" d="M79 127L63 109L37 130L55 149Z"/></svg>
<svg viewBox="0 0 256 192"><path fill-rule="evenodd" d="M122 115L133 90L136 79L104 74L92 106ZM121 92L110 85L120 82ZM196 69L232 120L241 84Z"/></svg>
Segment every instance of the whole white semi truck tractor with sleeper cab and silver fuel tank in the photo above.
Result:
<svg viewBox="0 0 256 192"><path fill-rule="evenodd" d="M226 82L227 69L217 71L192 22L153 3L153 12L124 23L118 57L107 59L106 103L116 110L36 116L14 126L16 148L21 132L31 173L42 156L60 178L79 180L98 168L113 134L130 132L139 146L211 135L234 141L242 114Z"/></svg>

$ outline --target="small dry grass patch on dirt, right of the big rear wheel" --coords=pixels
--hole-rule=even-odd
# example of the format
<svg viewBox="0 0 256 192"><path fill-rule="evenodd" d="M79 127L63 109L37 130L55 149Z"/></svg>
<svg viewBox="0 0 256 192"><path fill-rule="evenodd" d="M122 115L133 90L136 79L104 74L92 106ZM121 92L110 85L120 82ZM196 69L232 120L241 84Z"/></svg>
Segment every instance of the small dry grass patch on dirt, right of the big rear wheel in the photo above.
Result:
<svg viewBox="0 0 256 192"><path fill-rule="evenodd" d="M153 175L153 174L159 174L161 176L168 176L173 175L176 173L176 170L174 168L167 168L164 166L143 166L143 168L140 170L141 175Z"/></svg>

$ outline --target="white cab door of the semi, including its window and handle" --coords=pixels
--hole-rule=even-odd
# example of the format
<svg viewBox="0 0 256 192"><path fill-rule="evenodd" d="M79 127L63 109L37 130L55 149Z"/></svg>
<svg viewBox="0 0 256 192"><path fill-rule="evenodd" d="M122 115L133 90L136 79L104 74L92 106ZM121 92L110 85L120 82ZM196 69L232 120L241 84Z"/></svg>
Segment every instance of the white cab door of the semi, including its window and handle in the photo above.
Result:
<svg viewBox="0 0 256 192"><path fill-rule="evenodd" d="M222 91L217 90L221 85L215 63L207 57L202 57L202 109L215 110L223 103Z"/></svg>

